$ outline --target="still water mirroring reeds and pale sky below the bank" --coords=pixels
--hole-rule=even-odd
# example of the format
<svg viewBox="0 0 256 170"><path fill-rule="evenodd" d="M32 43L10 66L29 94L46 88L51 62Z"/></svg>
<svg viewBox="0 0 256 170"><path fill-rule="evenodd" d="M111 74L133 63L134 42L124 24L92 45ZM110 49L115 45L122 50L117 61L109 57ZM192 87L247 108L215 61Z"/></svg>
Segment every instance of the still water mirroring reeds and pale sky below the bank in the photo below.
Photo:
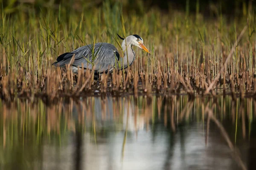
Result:
<svg viewBox="0 0 256 170"><path fill-rule="evenodd" d="M253 169L255 106L186 95L0 101L0 169Z"/></svg>

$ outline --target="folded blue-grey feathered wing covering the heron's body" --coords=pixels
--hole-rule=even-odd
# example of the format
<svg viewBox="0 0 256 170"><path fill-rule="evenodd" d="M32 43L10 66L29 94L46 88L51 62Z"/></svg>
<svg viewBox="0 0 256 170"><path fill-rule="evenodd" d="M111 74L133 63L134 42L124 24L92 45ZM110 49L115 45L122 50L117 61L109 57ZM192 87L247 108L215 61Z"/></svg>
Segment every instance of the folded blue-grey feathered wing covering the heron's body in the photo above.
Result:
<svg viewBox="0 0 256 170"><path fill-rule="evenodd" d="M73 66L82 67L84 65L84 68L92 69L92 61L94 60L95 71L98 72L108 71L108 68L111 69L115 65L116 60L119 60L116 47L112 44L102 42L95 44L94 57L92 55L92 45L86 45L70 53L61 54L57 58L57 62L53 63L53 65L64 66L69 64L74 54Z"/></svg>

